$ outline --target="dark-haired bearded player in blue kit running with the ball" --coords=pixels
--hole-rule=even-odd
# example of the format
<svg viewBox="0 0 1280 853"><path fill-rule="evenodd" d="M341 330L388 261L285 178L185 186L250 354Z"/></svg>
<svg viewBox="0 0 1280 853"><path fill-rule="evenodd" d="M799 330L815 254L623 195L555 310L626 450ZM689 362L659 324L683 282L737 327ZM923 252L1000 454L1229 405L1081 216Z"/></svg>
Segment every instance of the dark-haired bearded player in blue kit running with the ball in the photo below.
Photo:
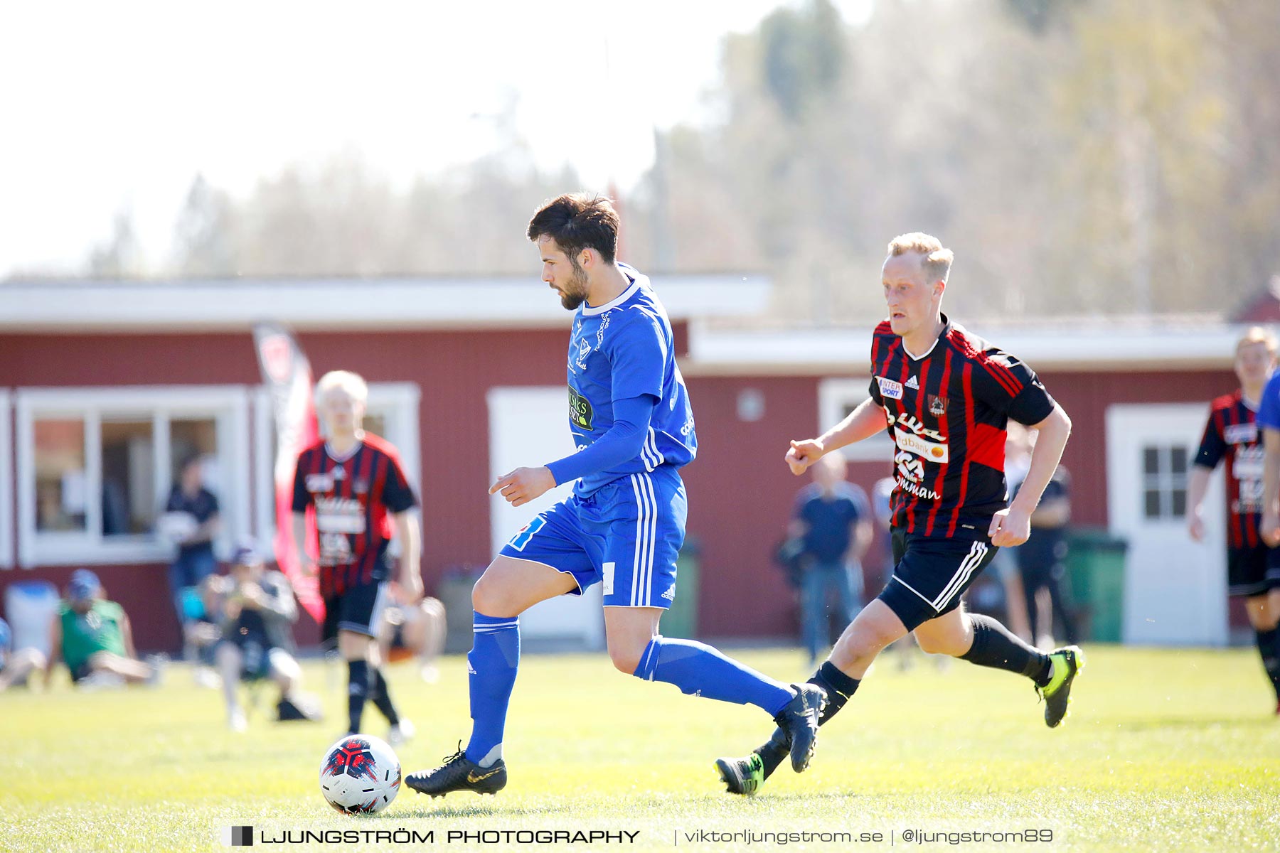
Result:
<svg viewBox="0 0 1280 853"><path fill-rule="evenodd" d="M559 483L567 500L521 528L471 593L475 642L467 655L471 739L404 784L439 797L492 794L507 784L503 728L520 664L520 614L553 596L604 587L609 657L621 671L685 693L755 705L788 737L791 765L809 765L824 693L776 682L716 648L658 633L676 592L685 538L680 468L698 439L671 322L649 279L614 261L618 215L605 198L566 194L529 224L543 281L575 311L568 349L568 414L577 451L493 483L513 506Z"/></svg>

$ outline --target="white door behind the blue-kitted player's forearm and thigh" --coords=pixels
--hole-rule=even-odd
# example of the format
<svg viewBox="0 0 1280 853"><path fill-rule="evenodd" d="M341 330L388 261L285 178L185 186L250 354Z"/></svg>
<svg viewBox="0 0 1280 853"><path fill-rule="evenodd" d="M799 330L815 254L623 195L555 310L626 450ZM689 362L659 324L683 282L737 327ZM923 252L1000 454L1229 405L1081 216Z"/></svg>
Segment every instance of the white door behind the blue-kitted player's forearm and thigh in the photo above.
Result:
<svg viewBox="0 0 1280 853"><path fill-rule="evenodd" d="M521 466L541 466L573 453L568 431L568 391L558 387L493 387L489 403L489 482ZM538 513L568 497L568 483L524 506L500 495L489 499L493 554ZM543 601L520 616L526 639L567 641L582 648L604 648L604 609L600 584L582 596Z"/></svg>

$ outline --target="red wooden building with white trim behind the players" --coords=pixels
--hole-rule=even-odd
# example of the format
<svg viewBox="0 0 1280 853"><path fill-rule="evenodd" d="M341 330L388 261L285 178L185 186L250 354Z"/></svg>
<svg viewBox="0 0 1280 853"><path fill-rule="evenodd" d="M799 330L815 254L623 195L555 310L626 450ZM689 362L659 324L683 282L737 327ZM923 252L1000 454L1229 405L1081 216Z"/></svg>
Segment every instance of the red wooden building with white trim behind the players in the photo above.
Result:
<svg viewBox="0 0 1280 853"><path fill-rule="evenodd" d="M704 320L764 312L765 280L655 285L698 417L699 457L685 469L698 630L790 634L794 604L771 551L803 483L782 454L865 396L870 326L724 331ZM518 527L521 510L486 494L493 474L511 459L554 458L543 436L567 441L570 315L535 280L14 281L0 299L0 595L14 579L61 586L92 565L142 648L177 646L169 547L150 533L177 459L210 460L223 547L273 529L255 320L292 325L317 375L340 367L370 381L369 426L401 446L421 489L429 590L451 569L486 564ZM1036 367L1075 423L1065 457L1075 520L1132 542L1126 639L1225 641L1222 524L1213 544L1193 546L1181 515L1207 402L1234 387L1242 329L970 326ZM854 450L851 478L869 487L886 476L887 446Z"/></svg>

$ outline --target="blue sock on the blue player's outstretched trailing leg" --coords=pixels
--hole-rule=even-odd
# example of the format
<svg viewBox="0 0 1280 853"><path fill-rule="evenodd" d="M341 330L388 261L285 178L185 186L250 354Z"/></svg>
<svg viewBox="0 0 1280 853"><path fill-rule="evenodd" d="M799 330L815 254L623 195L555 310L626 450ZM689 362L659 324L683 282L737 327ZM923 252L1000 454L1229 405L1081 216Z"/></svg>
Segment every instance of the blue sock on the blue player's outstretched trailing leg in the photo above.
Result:
<svg viewBox="0 0 1280 853"><path fill-rule="evenodd" d="M755 705L777 716L795 691L718 650L692 639L654 637L636 666L636 678L667 682L690 696L721 702Z"/></svg>

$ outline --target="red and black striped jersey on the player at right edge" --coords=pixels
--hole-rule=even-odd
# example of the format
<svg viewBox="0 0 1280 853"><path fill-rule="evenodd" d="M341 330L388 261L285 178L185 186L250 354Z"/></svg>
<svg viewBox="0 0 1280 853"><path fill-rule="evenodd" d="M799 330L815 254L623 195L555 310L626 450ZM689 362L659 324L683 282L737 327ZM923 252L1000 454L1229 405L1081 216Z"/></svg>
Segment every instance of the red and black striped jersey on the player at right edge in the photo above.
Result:
<svg viewBox="0 0 1280 853"><path fill-rule="evenodd" d="M1262 435L1257 412L1244 394L1226 394L1213 400L1201 439L1196 464L1213 469L1226 459L1226 544L1256 547L1262 515Z"/></svg>

